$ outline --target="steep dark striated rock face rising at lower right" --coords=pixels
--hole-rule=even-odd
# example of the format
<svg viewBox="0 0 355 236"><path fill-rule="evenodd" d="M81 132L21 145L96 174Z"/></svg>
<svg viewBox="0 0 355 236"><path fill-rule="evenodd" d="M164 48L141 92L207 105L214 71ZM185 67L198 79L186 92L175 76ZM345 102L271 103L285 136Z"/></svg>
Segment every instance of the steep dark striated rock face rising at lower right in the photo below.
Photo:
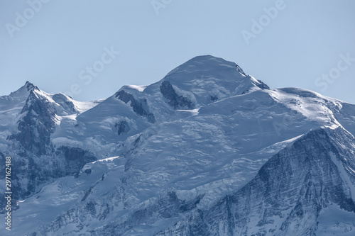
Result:
<svg viewBox="0 0 355 236"><path fill-rule="evenodd" d="M338 235L354 233L355 218L344 222L355 213L354 144L343 128L313 130L269 159L252 181L205 215L194 222L196 213L189 215L157 235L317 235L320 215L329 208L339 213L330 216L337 219L327 227L343 223Z"/></svg>

